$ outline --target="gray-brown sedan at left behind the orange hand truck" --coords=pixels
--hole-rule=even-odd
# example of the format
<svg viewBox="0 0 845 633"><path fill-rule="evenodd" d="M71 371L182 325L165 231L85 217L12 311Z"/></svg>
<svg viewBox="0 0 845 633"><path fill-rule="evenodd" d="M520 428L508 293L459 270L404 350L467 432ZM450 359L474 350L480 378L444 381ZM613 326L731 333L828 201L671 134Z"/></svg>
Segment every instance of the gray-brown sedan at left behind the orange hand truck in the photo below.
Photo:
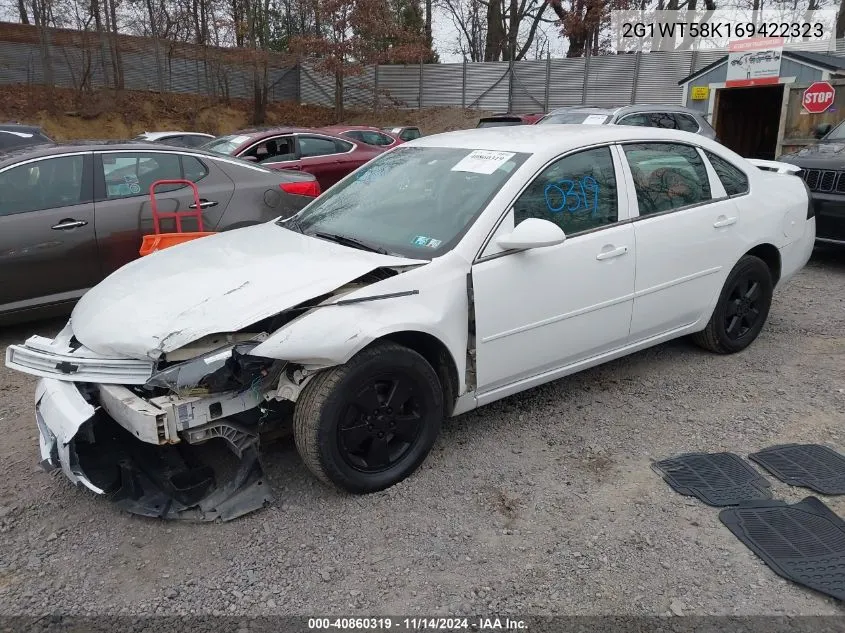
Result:
<svg viewBox="0 0 845 633"><path fill-rule="evenodd" d="M158 144L0 154L0 324L67 313L87 289L139 257L143 236L153 233L150 184L162 179L197 183L207 231L290 216L319 195L311 174ZM162 212L195 204L184 185L157 188L156 200ZM183 230L195 227L187 220ZM162 220L163 232L173 230L172 220Z"/></svg>

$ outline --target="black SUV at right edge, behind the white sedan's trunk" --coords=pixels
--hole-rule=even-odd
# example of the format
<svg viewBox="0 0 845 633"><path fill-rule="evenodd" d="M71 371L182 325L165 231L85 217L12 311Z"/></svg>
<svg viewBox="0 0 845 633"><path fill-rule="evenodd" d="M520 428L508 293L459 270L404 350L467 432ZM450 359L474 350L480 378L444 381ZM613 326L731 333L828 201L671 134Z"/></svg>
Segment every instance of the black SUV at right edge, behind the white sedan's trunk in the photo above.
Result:
<svg viewBox="0 0 845 633"><path fill-rule="evenodd" d="M816 212L816 241L845 245L845 121L816 128L819 142L778 160L801 168Z"/></svg>

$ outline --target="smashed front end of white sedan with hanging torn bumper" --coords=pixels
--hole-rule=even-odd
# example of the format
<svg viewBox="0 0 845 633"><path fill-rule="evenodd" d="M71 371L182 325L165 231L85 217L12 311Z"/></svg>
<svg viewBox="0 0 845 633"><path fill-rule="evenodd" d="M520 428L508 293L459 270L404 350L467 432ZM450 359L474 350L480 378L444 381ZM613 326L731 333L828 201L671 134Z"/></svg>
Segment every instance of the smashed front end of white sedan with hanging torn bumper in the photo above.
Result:
<svg viewBox="0 0 845 633"><path fill-rule="evenodd" d="M290 403L265 396L286 363L249 353L264 338L209 336L146 370L144 361L107 370L121 363L61 335L33 337L9 349L7 365L40 367L35 411L45 469L61 469L135 514L227 521L272 501L259 438L290 420ZM124 384L86 380L107 371ZM83 380L67 379L74 374Z"/></svg>

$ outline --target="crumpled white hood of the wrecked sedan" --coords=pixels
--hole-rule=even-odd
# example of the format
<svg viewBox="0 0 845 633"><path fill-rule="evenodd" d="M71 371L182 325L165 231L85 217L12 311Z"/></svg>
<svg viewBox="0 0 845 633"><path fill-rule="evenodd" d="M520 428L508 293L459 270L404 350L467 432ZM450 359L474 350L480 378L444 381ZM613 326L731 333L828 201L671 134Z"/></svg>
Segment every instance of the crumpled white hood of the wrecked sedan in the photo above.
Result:
<svg viewBox="0 0 845 633"><path fill-rule="evenodd" d="M71 325L77 340L99 354L157 358L203 336L240 330L376 268L420 263L259 224L127 264L82 297Z"/></svg>

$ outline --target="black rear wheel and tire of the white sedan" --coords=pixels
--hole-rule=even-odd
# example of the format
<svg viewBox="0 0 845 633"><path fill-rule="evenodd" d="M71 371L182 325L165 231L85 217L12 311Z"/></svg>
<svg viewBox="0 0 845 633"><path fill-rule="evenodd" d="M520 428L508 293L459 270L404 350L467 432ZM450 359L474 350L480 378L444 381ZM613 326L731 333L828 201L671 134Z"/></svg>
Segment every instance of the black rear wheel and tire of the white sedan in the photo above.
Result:
<svg viewBox="0 0 845 633"><path fill-rule="evenodd" d="M773 290L766 263L745 255L728 274L707 327L693 334L693 342L717 354L744 350L766 323Z"/></svg>

